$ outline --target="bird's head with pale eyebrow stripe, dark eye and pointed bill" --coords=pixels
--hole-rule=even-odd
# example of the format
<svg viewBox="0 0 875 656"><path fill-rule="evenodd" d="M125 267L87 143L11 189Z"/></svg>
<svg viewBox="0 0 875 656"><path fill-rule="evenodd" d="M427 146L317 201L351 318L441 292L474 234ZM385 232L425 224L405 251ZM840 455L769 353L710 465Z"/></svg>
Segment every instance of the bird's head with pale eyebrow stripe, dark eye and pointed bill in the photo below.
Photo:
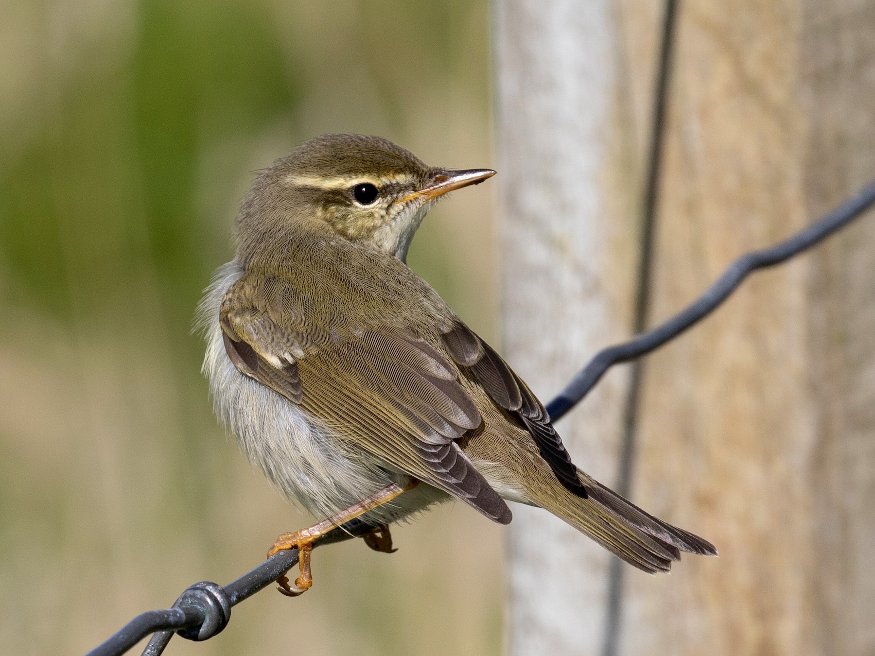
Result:
<svg viewBox="0 0 875 656"><path fill-rule="evenodd" d="M243 247L257 248L283 226L328 230L404 261L440 196L494 174L431 167L379 136L318 136L262 173L243 204L238 234Z"/></svg>

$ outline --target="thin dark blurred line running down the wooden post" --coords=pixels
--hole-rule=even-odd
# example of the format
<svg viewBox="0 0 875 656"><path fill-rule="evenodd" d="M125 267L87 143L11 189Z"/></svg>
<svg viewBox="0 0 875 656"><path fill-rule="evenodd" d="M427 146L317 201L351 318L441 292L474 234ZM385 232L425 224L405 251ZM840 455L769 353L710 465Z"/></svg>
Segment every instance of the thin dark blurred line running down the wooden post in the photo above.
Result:
<svg viewBox="0 0 875 656"><path fill-rule="evenodd" d="M654 235L656 204L659 200L659 182L662 169L662 143L665 137L665 112L668 105L669 77L674 51L678 0L666 0L662 17L662 44L656 69L654 105L651 116L650 151L648 153L647 180L641 204L641 256L638 261L638 291L635 297L633 331L635 334L647 328L650 305L650 283L654 259ZM616 490L627 497L632 487L632 468L635 455L638 409L641 399L643 360L631 365L626 406L623 410L623 439L620 444L620 466ZM605 656L617 656L620 649L620 629L623 611L623 563L619 558L611 560L608 577L607 622L605 631Z"/></svg>

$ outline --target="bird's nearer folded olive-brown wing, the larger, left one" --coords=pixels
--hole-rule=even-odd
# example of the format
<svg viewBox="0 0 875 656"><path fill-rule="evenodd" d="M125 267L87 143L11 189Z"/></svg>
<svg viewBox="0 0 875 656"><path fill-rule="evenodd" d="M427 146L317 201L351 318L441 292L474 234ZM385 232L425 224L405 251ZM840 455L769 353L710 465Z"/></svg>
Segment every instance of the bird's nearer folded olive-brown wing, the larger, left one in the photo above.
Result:
<svg viewBox="0 0 875 656"><path fill-rule="evenodd" d="M509 522L455 442L483 421L458 366L397 321L313 331L306 299L287 284L243 276L226 293L220 323L235 366L388 464Z"/></svg>

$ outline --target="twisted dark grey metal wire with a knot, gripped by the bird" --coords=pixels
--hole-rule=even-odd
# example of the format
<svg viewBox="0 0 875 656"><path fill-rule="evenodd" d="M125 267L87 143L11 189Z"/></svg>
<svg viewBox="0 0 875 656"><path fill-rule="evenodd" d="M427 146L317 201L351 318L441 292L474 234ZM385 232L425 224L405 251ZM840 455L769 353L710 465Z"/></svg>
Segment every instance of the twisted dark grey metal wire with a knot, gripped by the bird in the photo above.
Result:
<svg viewBox="0 0 875 656"><path fill-rule="evenodd" d="M574 408L613 365L641 358L655 351L707 317L753 271L786 262L808 250L857 219L873 204L875 181L789 239L772 248L741 255L701 297L674 317L627 342L598 352L562 392L549 402L547 411L550 418L555 422ZM353 520L319 538L313 547L361 537L373 528L362 520ZM290 549L271 556L224 588L216 583L196 583L183 592L172 608L138 615L102 645L88 652L87 656L119 656L151 633L155 635L146 646L144 656L159 656L163 653L174 632L187 639L210 639L228 625L232 606L268 587L296 564L297 549Z"/></svg>

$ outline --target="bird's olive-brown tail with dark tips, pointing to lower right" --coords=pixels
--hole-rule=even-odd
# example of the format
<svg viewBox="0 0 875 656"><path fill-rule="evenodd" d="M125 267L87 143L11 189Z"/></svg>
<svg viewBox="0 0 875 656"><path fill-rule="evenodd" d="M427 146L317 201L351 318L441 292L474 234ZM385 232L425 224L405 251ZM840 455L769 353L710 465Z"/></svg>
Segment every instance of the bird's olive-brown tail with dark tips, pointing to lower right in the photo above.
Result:
<svg viewBox="0 0 875 656"><path fill-rule="evenodd" d="M586 487L586 498L569 492L558 480L549 492L529 494L538 506L651 574L669 571L682 551L717 555L711 542L645 513L584 472L578 470L578 474Z"/></svg>

